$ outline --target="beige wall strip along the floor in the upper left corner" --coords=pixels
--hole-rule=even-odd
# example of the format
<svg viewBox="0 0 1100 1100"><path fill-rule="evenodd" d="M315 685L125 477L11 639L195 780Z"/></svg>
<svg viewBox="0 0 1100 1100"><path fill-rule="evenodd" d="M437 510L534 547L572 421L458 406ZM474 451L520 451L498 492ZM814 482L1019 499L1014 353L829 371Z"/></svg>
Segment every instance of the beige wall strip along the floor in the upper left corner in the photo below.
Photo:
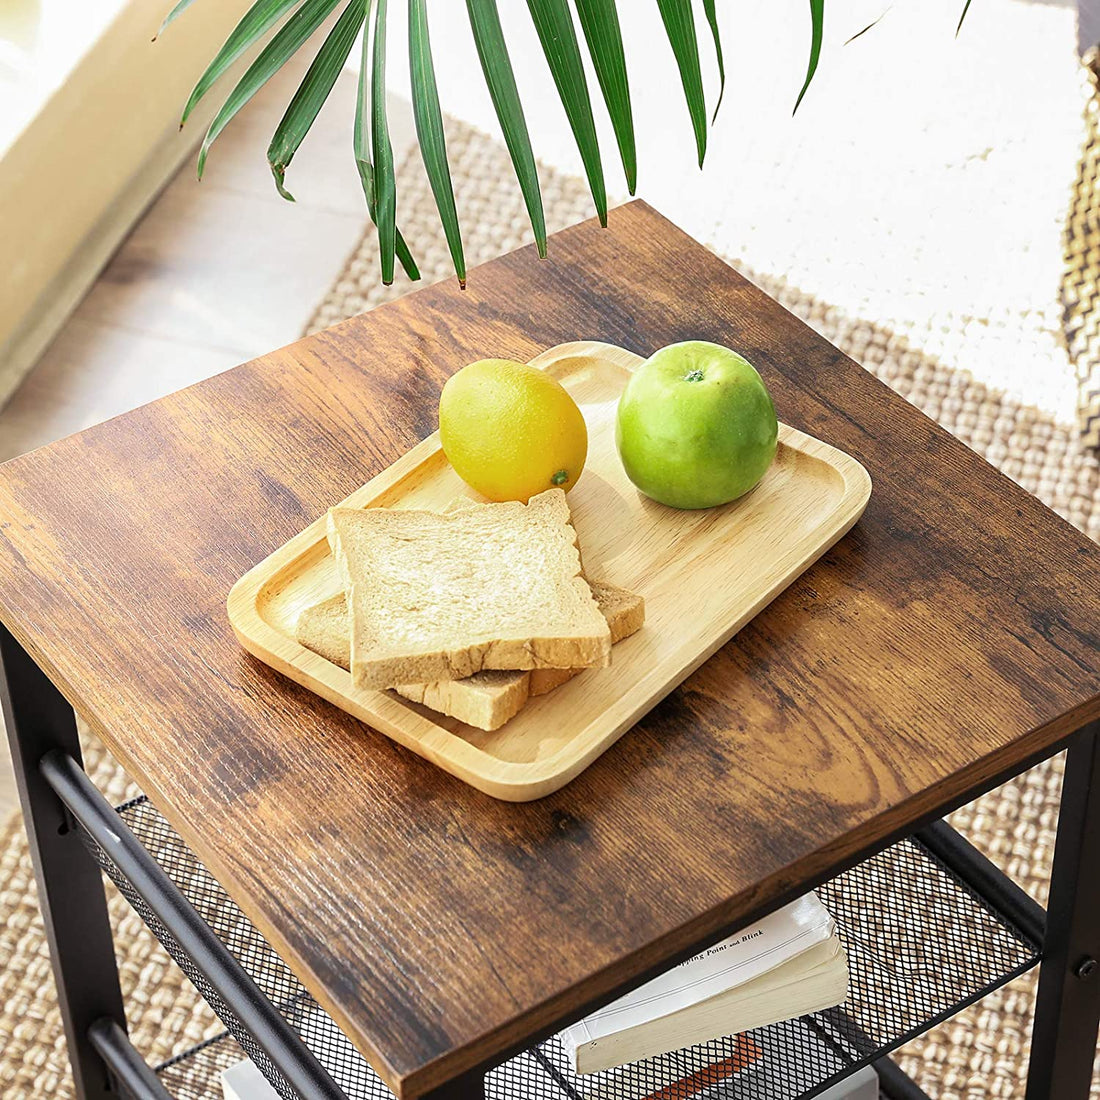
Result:
<svg viewBox="0 0 1100 1100"><path fill-rule="evenodd" d="M169 0L128 0L0 156L0 403L201 136L228 88L183 133L180 109L249 4L200 0L154 43Z"/></svg>

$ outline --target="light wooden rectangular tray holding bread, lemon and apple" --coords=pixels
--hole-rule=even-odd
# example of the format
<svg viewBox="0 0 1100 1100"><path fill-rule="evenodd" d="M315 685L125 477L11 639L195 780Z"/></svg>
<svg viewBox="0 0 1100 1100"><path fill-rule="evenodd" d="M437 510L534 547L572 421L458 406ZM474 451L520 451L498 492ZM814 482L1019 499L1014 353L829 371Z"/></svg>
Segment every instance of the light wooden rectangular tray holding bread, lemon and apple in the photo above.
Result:
<svg viewBox="0 0 1100 1100"><path fill-rule="evenodd" d="M272 668L479 790L510 802L563 787L837 541L871 492L855 459L780 425L771 470L723 508L678 512L641 496L615 450L615 408L642 360L603 343L551 348L532 364L573 395L588 426L584 474L569 495L586 572L646 597L646 625L590 669L531 698L486 733L351 675L294 637L302 608L340 590L324 517L233 586L229 619ZM356 490L343 507L441 509L472 491L433 435Z"/></svg>

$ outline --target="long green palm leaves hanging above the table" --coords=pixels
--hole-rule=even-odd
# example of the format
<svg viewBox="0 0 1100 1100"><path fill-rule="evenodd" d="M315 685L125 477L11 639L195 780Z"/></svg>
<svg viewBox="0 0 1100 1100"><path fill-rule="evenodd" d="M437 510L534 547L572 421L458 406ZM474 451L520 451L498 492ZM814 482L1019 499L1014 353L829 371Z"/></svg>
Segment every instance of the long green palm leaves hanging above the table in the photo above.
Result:
<svg viewBox="0 0 1100 1100"><path fill-rule="evenodd" d="M195 0L178 0L164 20L164 28L182 15ZM453 2L453 0L452 0ZM626 9L635 14L638 0ZM635 139L634 111L627 78L626 51L616 0L572 0L587 47L588 61L595 73L604 108L610 120L618 146L619 160L629 193L634 195L638 178L638 156ZM702 0L714 43L714 59L718 70L718 97L710 121L722 105L726 88L726 64L716 0ZM340 14L321 43L305 77L298 85L267 148L275 186L285 198L292 198L285 187L286 168L294 158L326 99L332 91L344 62L362 31L363 57L355 101L354 162L363 188L367 213L378 231L378 252L383 282L394 277L395 261L400 262L409 278L419 278L416 261L397 224L397 185L394 151L386 116L386 26L388 0L253 0L252 6L226 38L221 48L199 77L184 107L184 121L195 106L232 65L262 38L274 33L258 55L226 97L204 138L198 156L198 175L202 177L210 146L250 99L285 65L336 10ZM528 12L538 33L542 53L553 77L558 96L576 141L584 165L588 189L602 223L607 223L607 193L600 153L596 121L593 113L584 59L570 0L527 0ZM693 0L657 0L657 8L672 47L680 82L695 141L700 166L706 154L708 119L703 90L698 36L695 29ZM970 0L965 0L959 18L961 29ZM539 188L535 152L527 129L524 107L516 85L516 75L508 55L508 45L501 25L497 0L466 0L466 14L473 34L482 75L488 88L493 108L504 134L508 155L524 196L535 242L540 256L546 255L547 230ZM411 76L413 113L417 141L425 169L431 184L439 219L454 264L455 274L465 286L465 256L454 187L447 157L443 112L436 82L428 33L428 0L408 0L409 70ZM881 19L881 16L879 16ZM825 26L825 0L810 0L810 61L805 79L794 103L798 111L821 61ZM848 41L869 31L868 24ZM282 24L282 25L279 25ZM956 33L958 33L958 30Z"/></svg>

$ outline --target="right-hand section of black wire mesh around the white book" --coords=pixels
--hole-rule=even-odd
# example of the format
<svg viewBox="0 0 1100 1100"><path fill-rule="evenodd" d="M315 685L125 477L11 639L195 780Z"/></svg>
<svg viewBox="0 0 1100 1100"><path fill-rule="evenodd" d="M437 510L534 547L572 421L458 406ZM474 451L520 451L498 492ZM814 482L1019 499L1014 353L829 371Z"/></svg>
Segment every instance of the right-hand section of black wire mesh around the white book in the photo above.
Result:
<svg viewBox="0 0 1100 1100"><path fill-rule="evenodd" d="M579 1077L558 1040L540 1048L583 1100L796 1100L900 1046L1037 960L985 900L904 840L820 887L848 953L837 1009Z"/></svg>

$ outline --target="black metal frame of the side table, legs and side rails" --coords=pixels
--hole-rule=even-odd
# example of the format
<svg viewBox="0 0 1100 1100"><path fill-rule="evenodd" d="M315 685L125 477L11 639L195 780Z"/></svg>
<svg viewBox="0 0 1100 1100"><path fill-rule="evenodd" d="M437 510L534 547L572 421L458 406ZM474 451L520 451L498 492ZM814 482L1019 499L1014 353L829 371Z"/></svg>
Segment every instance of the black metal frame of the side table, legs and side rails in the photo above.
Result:
<svg viewBox="0 0 1100 1100"><path fill-rule="evenodd" d="M87 778L72 710L2 625L0 701L78 1100L117 1098L120 1086L136 1100L165 1100L168 1093L125 1035L102 880L75 823L109 854L304 1100L344 1100L297 1033ZM1100 878L1088 873L1100 864L1100 723L1045 755L1066 744L1070 756L1048 914L946 824L932 822L915 834L960 880L977 893L996 898L1026 936L1044 944L1027 1100L1086 1100L1100 1021L1100 925L1089 922L1100 906ZM558 1026L566 1023L562 1020ZM483 1098L487 1068L480 1066L441 1085L430 1100ZM927 1100L889 1058L879 1059L876 1069L882 1091L893 1100Z"/></svg>

